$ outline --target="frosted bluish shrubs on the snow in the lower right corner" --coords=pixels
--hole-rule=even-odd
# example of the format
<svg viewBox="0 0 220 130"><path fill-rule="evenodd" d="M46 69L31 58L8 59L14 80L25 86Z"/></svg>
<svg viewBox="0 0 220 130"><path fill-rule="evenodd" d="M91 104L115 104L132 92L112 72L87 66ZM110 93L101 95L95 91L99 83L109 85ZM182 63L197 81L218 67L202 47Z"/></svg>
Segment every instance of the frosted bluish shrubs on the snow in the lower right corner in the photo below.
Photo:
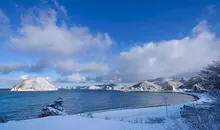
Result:
<svg viewBox="0 0 220 130"><path fill-rule="evenodd" d="M220 129L220 92L210 91L213 102L192 103L184 105L180 114L183 121L194 130Z"/></svg>

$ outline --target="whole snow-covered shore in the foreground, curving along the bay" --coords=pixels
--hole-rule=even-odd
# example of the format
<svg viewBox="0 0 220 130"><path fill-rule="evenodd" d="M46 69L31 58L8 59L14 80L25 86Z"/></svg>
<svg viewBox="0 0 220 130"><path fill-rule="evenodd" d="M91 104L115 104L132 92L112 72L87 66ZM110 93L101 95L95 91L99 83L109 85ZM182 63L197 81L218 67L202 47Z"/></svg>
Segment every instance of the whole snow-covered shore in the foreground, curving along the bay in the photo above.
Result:
<svg viewBox="0 0 220 130"><path fill-rule="evenodd" d="M210 102L206 94L195 94L194 103ZM184 103L189 104L192 102ZM0 130L165 130L187 126L181 121L180 107L184 104L112 110L68 116L52 116L0 124Z"/></svg>

